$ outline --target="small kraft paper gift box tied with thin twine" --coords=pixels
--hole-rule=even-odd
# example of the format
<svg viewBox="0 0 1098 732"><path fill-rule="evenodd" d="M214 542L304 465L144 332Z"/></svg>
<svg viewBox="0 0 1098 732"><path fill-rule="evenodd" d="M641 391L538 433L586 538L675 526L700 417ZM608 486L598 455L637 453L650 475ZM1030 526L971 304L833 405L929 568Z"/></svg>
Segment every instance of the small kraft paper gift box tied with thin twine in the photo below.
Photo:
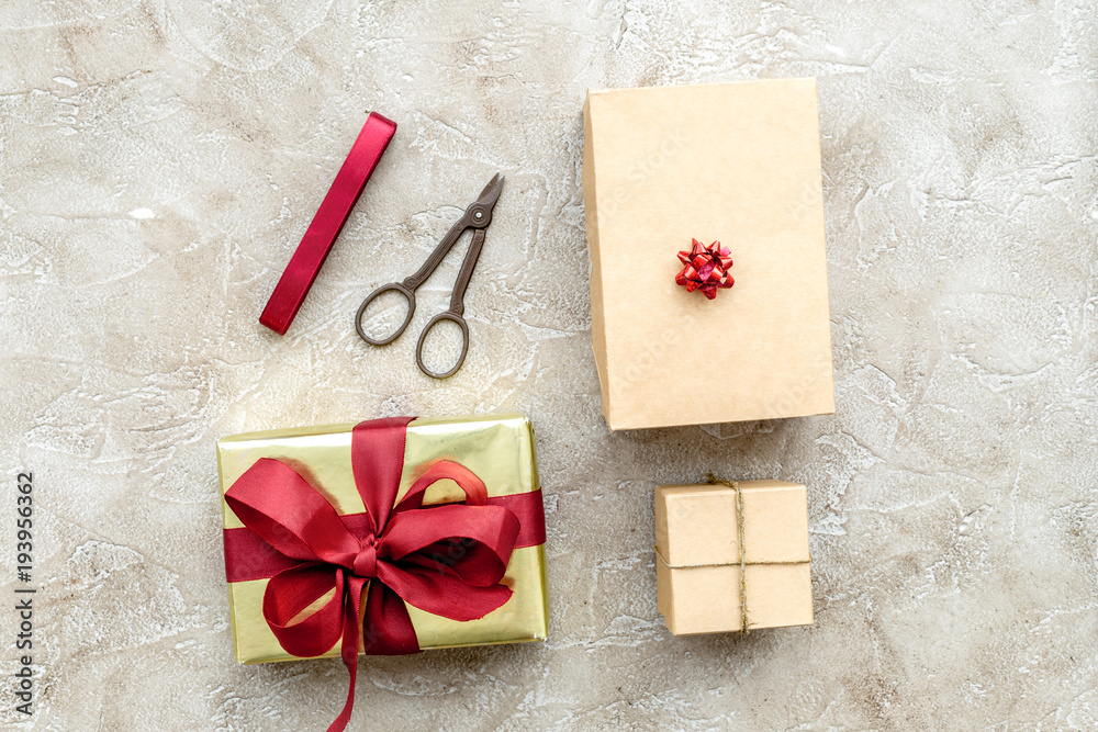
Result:
<svg viewBox="0 0 1098 732"><path fill-rule="evenodd" d="M656 489L657 606L675 635L813 623L805 486Z"/></svg>

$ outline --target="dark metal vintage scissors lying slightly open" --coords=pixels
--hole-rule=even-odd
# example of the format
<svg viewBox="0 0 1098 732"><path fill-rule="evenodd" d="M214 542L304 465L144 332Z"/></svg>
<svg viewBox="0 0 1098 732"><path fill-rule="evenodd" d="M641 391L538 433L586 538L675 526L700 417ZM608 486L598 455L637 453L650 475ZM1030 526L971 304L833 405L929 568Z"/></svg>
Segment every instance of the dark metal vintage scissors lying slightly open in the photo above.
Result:
<svg viewBox="0 0 1098 732"><path fill-rule="evenodd" d="M434 379L446 379L447 376L452 376L457 373L458 369L466 360L466 353L469 351L469 324L466 323L466 318L462 316L466 306L462 304L462 300L466 296L466 288L469 286L469 280L473 275L473 269L477 267L477 260L480 258L481 249L484 246L484 229L488 225L492 223L492 210L495 207L495 202L500 200L500 193L503 191L503 176L496 173L492 180L488 182L484 190L480 192L477 200L469 204L466 212L461 214L461 218L455 222L450 230L446 233L442 240L438 243L435 250L430 252L427 257L427 261L423 263L415 274L405 278L401 282L390 282L389 284L383 284L373 292L371 292L362 304L358 308L358 313L355 315L355 329L358 335L366 342L371 346L385 346L388 344L396 340L402 333L408 327L412 322L412 315L415 313L415 291L423 284L432 273L438 269L446 255L453 248L453 245L466 233L466 229L473 229L473 240L469 245L469 250L466 252L466 258L461 262L461 271L458 272L458 279L453 283L453 291L450 293L450 306L430 318L426 326L424 326L423 331L419 334L419 342L415 347L415 362L419 367L419 371L423 371L428 376ZM379 295L385 292L399 292L404 296L404 300L408 304L408 313L404 316L404 323L401 324L399 328L385 338L371 338L366 334L362 328L362 315L366 313L366 308L369 307L370 303L373 302ZM442 373L436 373L428 369L423 362L423 344L427 338L427 334L436 325L442 320L451 320L457 323L461 327L461 354L458 357L458 362L450 368L449 371Z"/></svg>

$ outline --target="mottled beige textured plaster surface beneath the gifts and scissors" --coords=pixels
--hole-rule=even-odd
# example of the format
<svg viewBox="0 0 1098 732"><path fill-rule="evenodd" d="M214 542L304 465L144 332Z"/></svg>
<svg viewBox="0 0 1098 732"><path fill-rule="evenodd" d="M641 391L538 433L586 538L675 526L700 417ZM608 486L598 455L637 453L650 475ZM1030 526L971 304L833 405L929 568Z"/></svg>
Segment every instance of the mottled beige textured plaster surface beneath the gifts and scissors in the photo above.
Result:
<svg viewBox="0 0 1098 732"><path fill-rule="evenodd" d="M1096 16L1066 0L3 0L0 607L14 476L33 470L42 675L23 721L0 611L0 723L324 729L337 661L233 661L215 440L519 409L539 436L551 640L363 660L356 729L1094 729ZM608 433L586 88L806 75L837 415ZM279 338L256 317L367 109L400 129ZM407 337L363 347L360 299L496 170L464 369L439 383ZM709 469L809 485L814 628L664 631L652 486Z"/></svg>

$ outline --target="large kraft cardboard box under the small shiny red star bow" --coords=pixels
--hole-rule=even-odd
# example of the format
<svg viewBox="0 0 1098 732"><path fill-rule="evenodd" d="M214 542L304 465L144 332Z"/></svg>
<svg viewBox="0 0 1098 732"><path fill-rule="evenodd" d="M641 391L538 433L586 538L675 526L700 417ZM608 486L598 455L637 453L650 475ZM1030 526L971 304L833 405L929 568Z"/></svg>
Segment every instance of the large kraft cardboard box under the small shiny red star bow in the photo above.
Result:
<svg viewBox="0 0 1098 732"><path fill-rule="evenodd" d="M589 91L583 195L610 429L834 412L815 79ZM675 284L731 250L715 300Z"/></svg>

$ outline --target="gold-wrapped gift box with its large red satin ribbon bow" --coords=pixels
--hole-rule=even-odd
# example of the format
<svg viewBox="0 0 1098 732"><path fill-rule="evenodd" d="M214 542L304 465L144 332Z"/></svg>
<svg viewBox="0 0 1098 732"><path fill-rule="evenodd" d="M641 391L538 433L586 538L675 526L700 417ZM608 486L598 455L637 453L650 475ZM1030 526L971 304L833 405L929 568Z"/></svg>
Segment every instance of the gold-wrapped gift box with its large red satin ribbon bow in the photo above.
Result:
<svg viewBox="0 0 1098 732"><path fill-rule="evenodd" d="M240 663L545 640L545 513L522 415L217 443Z"/></svg>

